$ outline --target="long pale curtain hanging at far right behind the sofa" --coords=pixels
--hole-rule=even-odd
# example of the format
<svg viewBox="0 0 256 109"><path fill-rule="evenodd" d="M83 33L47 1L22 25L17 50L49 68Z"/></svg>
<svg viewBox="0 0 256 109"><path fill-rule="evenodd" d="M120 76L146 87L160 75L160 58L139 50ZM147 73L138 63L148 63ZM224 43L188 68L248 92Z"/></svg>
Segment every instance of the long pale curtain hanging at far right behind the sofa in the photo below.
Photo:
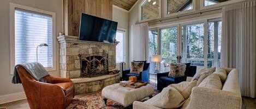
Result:
<svg viewBox="0 0 256 109"><path fill-rule="evenodd" d="M223 8L221 67L239 69L241 94L255 97L255 0Z"/></svg>

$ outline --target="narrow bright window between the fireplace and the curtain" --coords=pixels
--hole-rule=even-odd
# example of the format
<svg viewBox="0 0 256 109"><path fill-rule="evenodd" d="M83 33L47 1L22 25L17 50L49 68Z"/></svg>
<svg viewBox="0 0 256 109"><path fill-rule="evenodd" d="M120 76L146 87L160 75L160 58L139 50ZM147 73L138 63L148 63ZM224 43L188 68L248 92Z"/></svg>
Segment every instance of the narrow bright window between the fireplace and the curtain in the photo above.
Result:
<svg viewBox="0 0 256 109"><path fill-rule="evenodd" d="M125 38L126 31L117 30L116 41L119 43L116 46L116 63L125 62Z"/></svg>

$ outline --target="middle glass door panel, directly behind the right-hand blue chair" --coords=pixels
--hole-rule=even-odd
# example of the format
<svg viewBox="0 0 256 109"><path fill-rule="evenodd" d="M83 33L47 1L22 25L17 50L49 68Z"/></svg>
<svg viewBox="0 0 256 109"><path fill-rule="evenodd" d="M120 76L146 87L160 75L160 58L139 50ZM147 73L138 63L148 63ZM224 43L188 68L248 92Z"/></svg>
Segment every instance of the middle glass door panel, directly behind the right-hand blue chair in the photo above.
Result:
<svg viewBox="0 0 256 109"><path fill-rule="evenodd" d="M204 68L204 23L182 26L182 63Z"/></svg>

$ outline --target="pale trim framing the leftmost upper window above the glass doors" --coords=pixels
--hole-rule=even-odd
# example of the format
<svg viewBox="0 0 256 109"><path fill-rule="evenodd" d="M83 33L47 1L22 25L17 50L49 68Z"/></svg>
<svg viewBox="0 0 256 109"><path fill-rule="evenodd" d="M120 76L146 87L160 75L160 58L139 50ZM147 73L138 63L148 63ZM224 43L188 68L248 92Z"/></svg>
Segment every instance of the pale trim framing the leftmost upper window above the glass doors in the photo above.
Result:
<svg viewBox="0 0 256 109"><path fill-rule="evenodd" d="M146 20L141 20L141 18L142 18L142 11L141 11L141 7L142 7L142 5L145 3L145 2L147 2L148 0L143 0L140 4L139 4L139 22L146 22L146 21L152 21L152 20L157 20L157 19L159 19L159 18L161 18L161 16L162 16L162 0L159 0L159 9L158 9L158 11L159 11L159 15L157 16L157 17L152 17L152 18L148 18L148 19L146 19Z"/></svg>

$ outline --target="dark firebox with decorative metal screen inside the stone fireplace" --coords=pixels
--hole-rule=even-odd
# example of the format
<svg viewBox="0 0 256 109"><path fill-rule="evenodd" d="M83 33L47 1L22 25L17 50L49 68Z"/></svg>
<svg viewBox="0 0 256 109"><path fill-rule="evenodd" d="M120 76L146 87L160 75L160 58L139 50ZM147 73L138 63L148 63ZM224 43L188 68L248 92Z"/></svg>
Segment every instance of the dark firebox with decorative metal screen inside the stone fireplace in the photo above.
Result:
<svg viewBox="0 0 256 109"><path fill-rule="evenodd" d="M108 54L79 54L81 78L108 74Z"/></svg>

